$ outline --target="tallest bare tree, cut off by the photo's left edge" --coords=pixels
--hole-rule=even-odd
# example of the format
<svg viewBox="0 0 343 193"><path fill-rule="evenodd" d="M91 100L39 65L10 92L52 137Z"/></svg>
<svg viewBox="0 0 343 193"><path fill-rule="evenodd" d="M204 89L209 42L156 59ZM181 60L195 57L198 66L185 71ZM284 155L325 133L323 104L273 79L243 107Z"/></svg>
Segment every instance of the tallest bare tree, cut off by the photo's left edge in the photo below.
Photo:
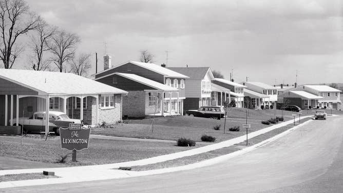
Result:
<svg viewBox="0 0 343 193"><path fill-rule="evenodd" d="M16 43L18 37L35 29L39 20L24 0L0 1L0 59L5 68L12 68L15 59L24 51L24 47Z"/></svg>

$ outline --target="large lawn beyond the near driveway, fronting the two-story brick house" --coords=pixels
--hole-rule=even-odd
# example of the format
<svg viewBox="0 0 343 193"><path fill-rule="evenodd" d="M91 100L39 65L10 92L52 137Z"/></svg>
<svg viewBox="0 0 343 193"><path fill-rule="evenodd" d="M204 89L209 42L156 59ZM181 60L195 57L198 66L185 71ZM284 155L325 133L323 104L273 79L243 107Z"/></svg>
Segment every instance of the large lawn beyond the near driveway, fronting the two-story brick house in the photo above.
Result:
<svg viewBox="0 0 343 193"><path fill-rule="evenodd" d="M248 124L251 124L251 132L268 127L261 124L259 120L266 120L276 115L281 117L280 110L249 110ZM230 108L229 117L245 118L245 109ZM284 111L285 121L292 119L292 112ZM215 142L225 141L242 136L245 130L242 129L242 124L245 120L241 119L226 119L225 133L223 133L224 119L215 120L198 117L158 117L155 118L154 131L151 126L153 118L128 120L128 124L113 124L106 128L93 128L92 134L101 134L105 136L129 137L129 138L144 138L144 139L162 139L162 140L178 140L181 137L189 138L197 142L201 141L201 136L206 134L216 138ZM221 125L220 130L214 130L213 127ZM240 126L238 132L228 131L228 128ZM269 125L271 126L271 125ZM151 132L153 131L153 132Z"/></svg>

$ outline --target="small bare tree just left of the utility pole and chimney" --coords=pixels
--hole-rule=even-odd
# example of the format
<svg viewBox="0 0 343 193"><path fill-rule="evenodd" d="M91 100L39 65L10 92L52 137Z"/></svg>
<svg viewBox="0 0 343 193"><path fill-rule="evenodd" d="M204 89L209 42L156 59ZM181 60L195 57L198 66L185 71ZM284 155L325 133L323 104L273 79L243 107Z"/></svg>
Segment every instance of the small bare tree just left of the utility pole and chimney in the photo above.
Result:
<svg viewBox="0 0 343 193"><path fill-rule="evenodd" d="M80 76L87 76L91 68L90 53L81 53L77 57L71 59L71 72Z"/></svg>

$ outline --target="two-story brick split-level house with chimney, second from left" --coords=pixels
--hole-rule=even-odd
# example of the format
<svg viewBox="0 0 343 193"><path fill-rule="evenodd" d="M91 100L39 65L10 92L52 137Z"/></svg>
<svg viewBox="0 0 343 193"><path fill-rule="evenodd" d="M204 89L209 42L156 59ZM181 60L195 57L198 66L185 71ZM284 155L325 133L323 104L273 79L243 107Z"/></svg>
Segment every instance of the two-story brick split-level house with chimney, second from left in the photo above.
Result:
<svg viewBox="0 0 343 193"><path fill-rule="evenodd" d="M95 74L95 80L128 91L123 96L125 117L183 115L188 76L151 63L108 64L110 60L104 63L104 71Z"/></svg>

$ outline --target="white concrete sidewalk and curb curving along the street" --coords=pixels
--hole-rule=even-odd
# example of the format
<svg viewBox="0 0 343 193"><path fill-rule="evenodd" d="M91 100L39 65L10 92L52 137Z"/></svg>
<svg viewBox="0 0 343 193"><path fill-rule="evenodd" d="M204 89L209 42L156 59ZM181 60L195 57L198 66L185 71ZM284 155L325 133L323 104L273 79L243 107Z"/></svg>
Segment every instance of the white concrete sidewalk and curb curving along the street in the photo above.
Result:
<svg viewBox="0 0 343 193"><path fill-rule="evenodd" d="M308 118L311 116L305 116L301 117L301 119ZM299 121L299 118L296 119L296 121ZM248 139L254 138L256 136L259 136L260 134L269 132L271 130L286 126L288 124L293 123L293 120L285 121L270 127L266 127L263 129L260 129L258 131L252 132L248 134ZM302 124L296 126L299 127ZM290 130L294 130L295 128L292 128ZM290 132L290 130L288 130ZM278 136L282 136L281 134L287 133L283 132L280 133ZM273 137L276 138L277 136ZM235 155L240 155L241 153L247 152L249 150L254 149L255 147L258 147L262 144L265 144L266 141L261 142L260 144L256 144L251 147L247 147L243 150L236 151L234 153L230 153L225 156L221 156L218 158L214 158L211 160L206 160L202 162L198 162L195 164L190 164L186 166L180 166L176 168L164 168L159 170L150 170L150 171L124 171L124 170L118 170L113 168L118 168L120 166L135 166L135 165L147 165L147 164L154 164L159 162L164 162L168 160L174 160L186 156L193 156L197 155L199 153L204 153L216 149L220 149L223 147L232 146L236 143L240 143L246 140L246 136L241 136L235 139L223 141L220 143L215 143L195 149L190 149L186 151L171 153L168 155L163 156L157 156L153 158L147 158L143 160L137 160L137 161L129 161L129 162L122 162L122 163L114 163L114 164L103 164L103 165L92 165L92 166L77 166L77 167L61 167L61 168L42 168L42 169L14 169L14 170L0 170L0 175L6 175L6 174L18 174L18 173L33 173L33 172L42 172L43 170L47 171L54 171L56 176L59 176L61 178L53 178L53 179L37 179L37 180L22 180L22 181L11 181L11 182L0 182L0 188L8 188L8 187L17 187L17 186L33 186L33 185L45 185L45 184L60 184L60 183L71 183L71 182L82 182L82 181L94 181L94 180L108 180L108 179L116 179L116 178L128 178L128 177L134 177L134 176L145 176L145 175L151 175L151 174L157 174L157 173L163 173L163 172L171 172L171 171L177 171L177 170L184 170L184 169L192 169L195 167L202 167L206 165L211 165L213 163L216 163L218 161L223 161L225 159L231 158Z"/></svg>

